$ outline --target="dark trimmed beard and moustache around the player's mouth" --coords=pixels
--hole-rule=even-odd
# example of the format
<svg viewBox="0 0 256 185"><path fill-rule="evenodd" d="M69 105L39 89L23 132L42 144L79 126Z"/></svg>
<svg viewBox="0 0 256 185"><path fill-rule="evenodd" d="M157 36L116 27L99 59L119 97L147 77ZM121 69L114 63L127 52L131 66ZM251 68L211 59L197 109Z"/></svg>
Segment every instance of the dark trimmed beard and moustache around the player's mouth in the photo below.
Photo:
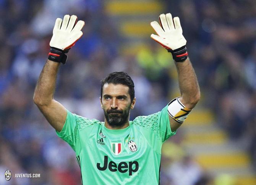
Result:
<svg viewBox="0 0 256 185"><path fill-rule="evenodd" d="M111 113L119 113L119 114L111 114ZM128 116L130 114L130 108L127 108L125 110L117 110L117 109L110 109L105 110L104 114L107 122L112 127L120 127L124 125L128 119Z"/></svg>

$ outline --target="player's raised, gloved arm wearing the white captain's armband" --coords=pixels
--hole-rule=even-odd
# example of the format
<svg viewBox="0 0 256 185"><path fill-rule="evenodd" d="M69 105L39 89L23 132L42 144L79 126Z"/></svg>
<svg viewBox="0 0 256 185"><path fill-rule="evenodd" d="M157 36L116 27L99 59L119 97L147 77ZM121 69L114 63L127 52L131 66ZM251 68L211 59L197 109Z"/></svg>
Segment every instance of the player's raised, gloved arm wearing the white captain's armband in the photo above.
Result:
<svg viewBox="0 0 256 185"><path fill-rule="evenodd" d="M175 131L198 103L200 90L196 74L188 58L186 39L182 35L180 19L178 17L172 19L172 15L167 13L161 14L159 21L161 26L156 21L151 22L151 26L158 34L151 34L151 38L172 53L178 71L181 97L175 98L168 105L170 127L172 131Z"/></svg>

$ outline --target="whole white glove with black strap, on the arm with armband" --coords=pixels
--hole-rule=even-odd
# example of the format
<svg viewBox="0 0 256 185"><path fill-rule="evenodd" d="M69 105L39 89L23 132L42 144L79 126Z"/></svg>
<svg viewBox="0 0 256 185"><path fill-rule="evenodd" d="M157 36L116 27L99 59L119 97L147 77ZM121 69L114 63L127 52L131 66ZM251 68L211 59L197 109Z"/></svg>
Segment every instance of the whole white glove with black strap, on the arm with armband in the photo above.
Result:
<svg viewBox="0 0 256 185"><path fill-rule="evenodd" d="M182 35L180 19L175 17L172 20L172 15L167 13L166 15L160 14L159 21L161 26L157 21L150 23L158 34L151 34L151 38L172 53L173 60L176 62L185 61L188 58L188 52L186 50L186 39Z"/></svg>

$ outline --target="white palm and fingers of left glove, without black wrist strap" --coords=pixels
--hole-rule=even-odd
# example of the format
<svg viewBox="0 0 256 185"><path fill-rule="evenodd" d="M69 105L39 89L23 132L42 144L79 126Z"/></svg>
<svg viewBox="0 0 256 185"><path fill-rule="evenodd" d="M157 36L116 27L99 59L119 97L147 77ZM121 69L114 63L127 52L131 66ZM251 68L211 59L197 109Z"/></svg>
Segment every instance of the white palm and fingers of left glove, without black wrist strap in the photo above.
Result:
<svg viewBox="0 0 256 185"><path fill-rule="evenodd" d="M56 19L50 47L65 50L75 45L75 42L83 35L81 29L84 26L84 21L76 23L76 20L77 17L75 15L71 17L65 15L63 21L61 18Z"/></svg>

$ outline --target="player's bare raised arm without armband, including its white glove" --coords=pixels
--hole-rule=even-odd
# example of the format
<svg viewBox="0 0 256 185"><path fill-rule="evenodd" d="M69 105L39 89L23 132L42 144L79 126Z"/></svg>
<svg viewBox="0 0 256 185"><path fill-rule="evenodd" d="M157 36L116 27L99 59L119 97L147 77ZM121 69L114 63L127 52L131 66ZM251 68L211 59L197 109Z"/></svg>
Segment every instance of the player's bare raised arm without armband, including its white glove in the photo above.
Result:
<svg viewBox="0 0 256 185"><path fill-rule="evenodd" d="M48 60L37 81L33 97L34 103L58 132L65 124L67 112L58 101L54 100L53 94L60 63L66 63L65 53L83 35L81 29L84 26L84 21L78 21L76 24L76 20L75 15L71 17L65 15L63 21L60 18L56 19Z"/></svg>

